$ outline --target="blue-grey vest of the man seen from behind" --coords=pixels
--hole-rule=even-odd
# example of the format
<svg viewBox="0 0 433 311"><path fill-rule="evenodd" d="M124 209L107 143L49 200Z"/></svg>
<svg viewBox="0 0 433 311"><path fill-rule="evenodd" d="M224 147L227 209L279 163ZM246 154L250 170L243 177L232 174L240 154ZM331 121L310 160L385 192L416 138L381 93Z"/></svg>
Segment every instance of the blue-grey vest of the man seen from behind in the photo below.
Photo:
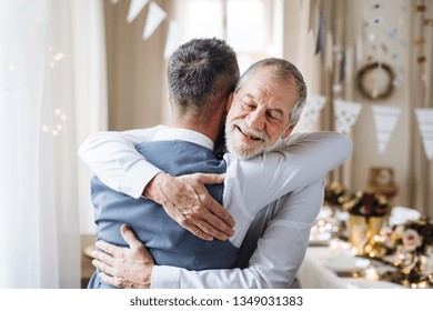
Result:
<svg viewBox="0 0 433 311"><path fill-rule="evenodd" d="M172 175L195 172L224 173L225 162L216 160L209 149L185 141L152 141L137 147L152 164ZM222 203L223 184L207 187L210 194ZM180 227L160 204L140 198L133 199L107 187L94 177L91 198L98 239L128 247L120 234L121 224L129 224L144 243L158 265L174 265L188 270L234 268L239 249L230 241L201 240ZM88 288L110 288L95 271Z"/></svg>

